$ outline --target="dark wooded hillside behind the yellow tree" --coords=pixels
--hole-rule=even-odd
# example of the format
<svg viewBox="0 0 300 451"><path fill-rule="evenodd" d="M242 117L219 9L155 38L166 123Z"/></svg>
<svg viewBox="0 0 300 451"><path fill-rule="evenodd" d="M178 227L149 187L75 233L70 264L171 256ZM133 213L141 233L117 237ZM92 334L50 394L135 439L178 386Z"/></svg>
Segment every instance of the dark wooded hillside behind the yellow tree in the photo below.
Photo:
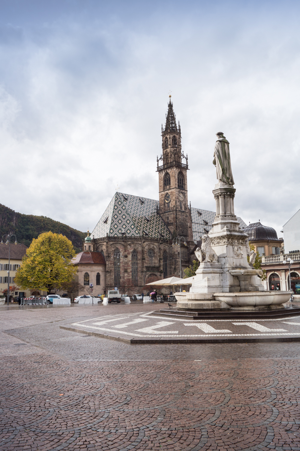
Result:
<svg viewBox="0 0 300 451"><path fill-rule="evenodd" d="M80 252L82 239L85 238L86 233L72 229L72 227L46 216L24 215L0 204L1 237L5 234L15 234L18 243L25 244L28 247L33 238L49 231L65 235L72 241L75 250Z"/></svg>

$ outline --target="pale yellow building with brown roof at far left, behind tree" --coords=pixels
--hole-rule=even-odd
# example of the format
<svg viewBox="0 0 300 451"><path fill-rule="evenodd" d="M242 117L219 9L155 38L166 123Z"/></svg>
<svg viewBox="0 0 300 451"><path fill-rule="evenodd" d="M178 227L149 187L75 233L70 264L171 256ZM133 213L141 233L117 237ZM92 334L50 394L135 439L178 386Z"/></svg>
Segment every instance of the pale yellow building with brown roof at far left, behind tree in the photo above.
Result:
<svg viewBox="0 0 300 451"><path fill-rule="evenodd" d="M22 258L26 254L26 250L27 247L25 246L25 244L11 243L9 255L9 245L0 243L0 295L3 295L4 290L7 290L8 277L9 286L13 287L13 285L16 285L14 283L14 278L16 276L18 267L22 263ZM13 298L14 296L27 298L30 295L30 290L19 291L19 288L16 285L16 290L14 290L13 293L10 293L10 298Z"/></svg>

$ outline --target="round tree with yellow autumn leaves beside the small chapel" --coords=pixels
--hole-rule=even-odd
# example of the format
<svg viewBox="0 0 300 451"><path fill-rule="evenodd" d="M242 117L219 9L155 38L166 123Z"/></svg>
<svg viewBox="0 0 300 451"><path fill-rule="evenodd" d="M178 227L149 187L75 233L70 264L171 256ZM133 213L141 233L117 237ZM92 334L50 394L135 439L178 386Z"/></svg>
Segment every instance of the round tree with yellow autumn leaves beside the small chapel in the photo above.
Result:
<svg viewBox="0 0 300 451"><path fill-rule="evenodd" d="M23 289L47 290L49 293L72 280L76 273L76 267L71 263L74 255L72 242L65 236L42 233L32 240L14 281Z"/></svg>

